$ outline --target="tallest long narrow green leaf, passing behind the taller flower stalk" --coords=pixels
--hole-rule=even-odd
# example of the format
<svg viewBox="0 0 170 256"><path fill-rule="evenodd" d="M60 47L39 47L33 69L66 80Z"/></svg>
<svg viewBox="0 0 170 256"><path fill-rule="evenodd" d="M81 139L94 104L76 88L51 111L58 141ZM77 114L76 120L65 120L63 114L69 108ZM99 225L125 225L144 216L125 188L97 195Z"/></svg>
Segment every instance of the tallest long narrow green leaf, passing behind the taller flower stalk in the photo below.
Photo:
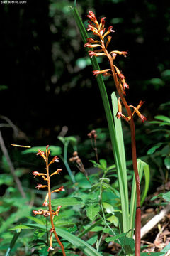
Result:
<svg viewBox="0 0 170 256"><path fill-rule="evenodd" d="M79 16L79 13L77 11L76 6L74 6L74 8L72 8L72 14L74 16L75 21L77 22L77 26L79 28L79 31L81 33L81 37L84 41L84 43L86 43L86 38L88 37L87 33L86 33L86 29L84 28L84 24L81 21L81 18ZM93 50L93 49L89 49L89 50ZM91 63L93 65L94 70L100 70L96 57L91 58ZM101 97L103 100L103 106L104 106L104 110L106 112L106 119L108 121L108 129L110 132L110 136L111 136L111 142L112 142L112 146L113 146L113 154L115 157L115 165L118 171L118 181L119 181L119 186L120 186L120 200L121 200L121 206L122 206L122 218L123 218L123 230L120 230L121 232L128 232L128 230L130 229L129 226L129 206L128 206L128 184L127 184L127 178L125 178L127 176L126 172L123 171L123 166L121 164L121 159L120 159L120 153L118 150L118 141L116 138L116 134L115 134L115 126L114 126L114 122L113 122L113 114L111 112L111 107L108 101L108 95L106 92L106 87L104 85L103 82L103 78L102 75L98 75L97 76L97 82L98 82L98 87L99 90L101 92Z"/></svg>

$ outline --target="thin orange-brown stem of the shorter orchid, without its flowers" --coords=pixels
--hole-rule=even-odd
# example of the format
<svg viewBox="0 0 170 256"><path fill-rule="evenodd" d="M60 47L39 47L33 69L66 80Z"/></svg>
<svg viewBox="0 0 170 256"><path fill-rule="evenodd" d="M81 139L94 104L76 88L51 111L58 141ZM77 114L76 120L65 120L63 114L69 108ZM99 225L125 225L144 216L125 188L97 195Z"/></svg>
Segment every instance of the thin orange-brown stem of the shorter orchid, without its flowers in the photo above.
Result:
<svg viewBox="0 0 170 256"><path fill-rule="evenodd" d="M62 245L62 242L60 241L60 238L58 237L58 235L55 231L55 225L54 225L54 222L53 222L48 157L46 159L46 171L47 171L47 186L48 186L48 207L49 207L49 211L50 211L50 222L51 222L51 226L52 226L52 232L54 233L57 242L59 243L60 247L62 248L62 255L66 256L65 251L64 251L64 246Z"/></svg>

